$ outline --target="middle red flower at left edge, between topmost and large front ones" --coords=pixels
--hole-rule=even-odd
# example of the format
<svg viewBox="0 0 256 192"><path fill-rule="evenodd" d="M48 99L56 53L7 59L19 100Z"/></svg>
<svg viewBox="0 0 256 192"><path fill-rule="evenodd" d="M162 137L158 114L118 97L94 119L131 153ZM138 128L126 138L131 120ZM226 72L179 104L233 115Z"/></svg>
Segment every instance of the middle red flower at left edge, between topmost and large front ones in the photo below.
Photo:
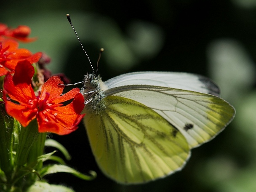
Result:
<svg viewBox="0 0 256 192"><path fill-rule="evenodd" d="M41 52L32 54L29 50L18 49L19 43L15 40L4 40L0 42L0 76L5 75L8 70L13 71L18 61L27 59L30 64L39 61ZM7 68L7 69L6 69Z"/></svg>

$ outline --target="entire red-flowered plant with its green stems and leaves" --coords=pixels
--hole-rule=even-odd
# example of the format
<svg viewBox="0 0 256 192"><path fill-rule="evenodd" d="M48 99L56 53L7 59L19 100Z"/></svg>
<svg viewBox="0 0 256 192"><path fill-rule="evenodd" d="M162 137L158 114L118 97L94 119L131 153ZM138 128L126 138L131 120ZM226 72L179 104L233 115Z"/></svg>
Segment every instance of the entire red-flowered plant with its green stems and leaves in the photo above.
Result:
<svg viewBox="0 0 256 192"><path fill-rule="evenodd" d="M47 133L75 131L84 116L84 98L79 88L62 93L67 81L61 79L67 78L51 75L44 66L50 62L46 54L19 48L18 41L36 40L28 37L30 32L27 26L11 29L0 24L0 191L4 192L47 191L49 185L39 180L53 172L92 179L65 165L43 167L54 153L43 154ZM65 191L62 187L56 190Z"/></svg>

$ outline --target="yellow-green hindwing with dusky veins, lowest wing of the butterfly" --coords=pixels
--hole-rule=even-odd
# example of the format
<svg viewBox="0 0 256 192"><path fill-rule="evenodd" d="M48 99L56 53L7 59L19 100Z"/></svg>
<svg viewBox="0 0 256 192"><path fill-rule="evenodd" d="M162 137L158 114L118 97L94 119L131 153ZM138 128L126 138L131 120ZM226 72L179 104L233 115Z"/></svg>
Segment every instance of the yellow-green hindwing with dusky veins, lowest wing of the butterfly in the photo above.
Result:
<svg viewBox="0 0 256 192"><path fill-rule="evenodd" d="M180 170L190 155L178 129L149 107L119 96L104 98L100 115L84 123L101 170L119 183L136 184Z"/></svg>

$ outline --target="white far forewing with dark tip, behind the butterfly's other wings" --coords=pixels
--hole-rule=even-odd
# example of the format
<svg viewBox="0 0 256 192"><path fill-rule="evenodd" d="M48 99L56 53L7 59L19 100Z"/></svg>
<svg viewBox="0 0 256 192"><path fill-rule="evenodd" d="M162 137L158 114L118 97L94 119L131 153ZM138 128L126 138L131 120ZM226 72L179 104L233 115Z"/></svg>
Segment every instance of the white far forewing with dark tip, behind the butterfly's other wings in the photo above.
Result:
<svg viewBox="0 0 256 192"><path fill-rule="evenodd" d="M219 88L209 78L184 72L132 72L104 82L108 88L123 85L154 85L197 91L219 96Z"/></svg>

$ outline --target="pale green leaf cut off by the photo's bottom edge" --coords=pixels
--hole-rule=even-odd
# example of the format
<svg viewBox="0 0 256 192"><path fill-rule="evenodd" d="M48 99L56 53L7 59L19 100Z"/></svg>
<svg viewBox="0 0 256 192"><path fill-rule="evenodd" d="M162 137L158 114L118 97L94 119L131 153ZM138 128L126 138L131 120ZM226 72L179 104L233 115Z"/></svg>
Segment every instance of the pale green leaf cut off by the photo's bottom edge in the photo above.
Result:
<svg viewBox="0 0 256 192"><path fill-rule="evenodd" d="M75 192L73 189L62 185L48 184L43 181L36 181L26 192Z"/></svg>

